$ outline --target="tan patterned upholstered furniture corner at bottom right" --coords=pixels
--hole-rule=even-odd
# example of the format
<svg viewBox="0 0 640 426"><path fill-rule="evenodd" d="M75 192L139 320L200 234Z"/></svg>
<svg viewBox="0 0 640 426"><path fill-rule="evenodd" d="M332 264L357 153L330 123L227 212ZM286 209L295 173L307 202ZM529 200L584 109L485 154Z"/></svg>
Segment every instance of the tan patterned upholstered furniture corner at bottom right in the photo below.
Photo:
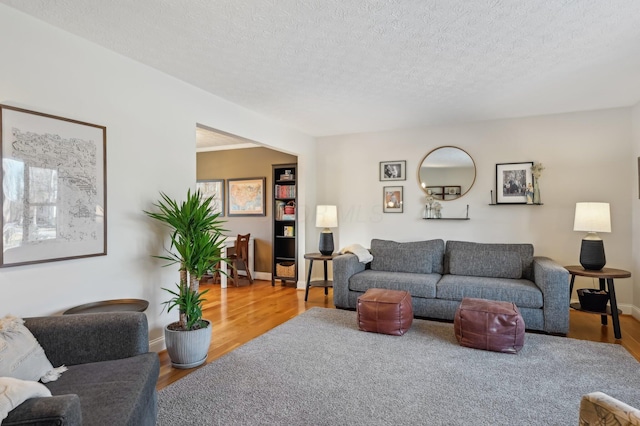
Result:
<svg viewBox="0 0 640 426"><path fill-rule="evenodd" d="M603 424L640 426L640 410L602 392L583 395L580 425Z"/></svg>

